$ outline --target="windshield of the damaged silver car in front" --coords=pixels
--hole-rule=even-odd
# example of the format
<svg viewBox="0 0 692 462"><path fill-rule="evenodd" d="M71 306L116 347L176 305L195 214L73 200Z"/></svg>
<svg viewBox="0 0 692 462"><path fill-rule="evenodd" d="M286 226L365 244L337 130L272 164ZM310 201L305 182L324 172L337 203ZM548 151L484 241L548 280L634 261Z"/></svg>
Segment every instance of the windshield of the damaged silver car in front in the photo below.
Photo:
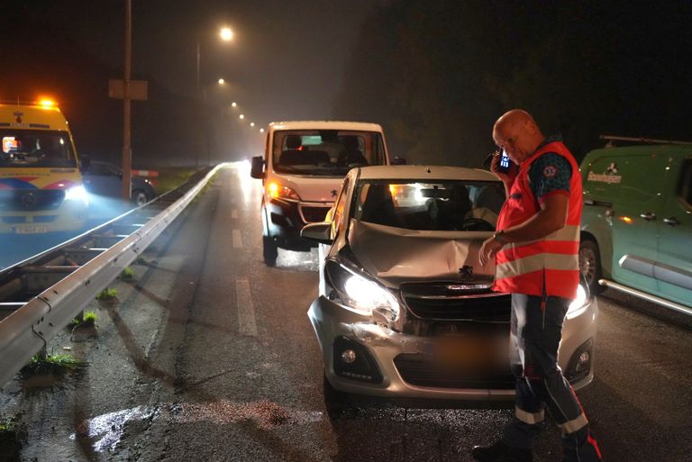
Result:
<svg viewBox="0 0 692 462"><path fill-rule="evenodd" d="M418 231L493 231L505 202L497 181L362 180L352 217Z"/></svg>

